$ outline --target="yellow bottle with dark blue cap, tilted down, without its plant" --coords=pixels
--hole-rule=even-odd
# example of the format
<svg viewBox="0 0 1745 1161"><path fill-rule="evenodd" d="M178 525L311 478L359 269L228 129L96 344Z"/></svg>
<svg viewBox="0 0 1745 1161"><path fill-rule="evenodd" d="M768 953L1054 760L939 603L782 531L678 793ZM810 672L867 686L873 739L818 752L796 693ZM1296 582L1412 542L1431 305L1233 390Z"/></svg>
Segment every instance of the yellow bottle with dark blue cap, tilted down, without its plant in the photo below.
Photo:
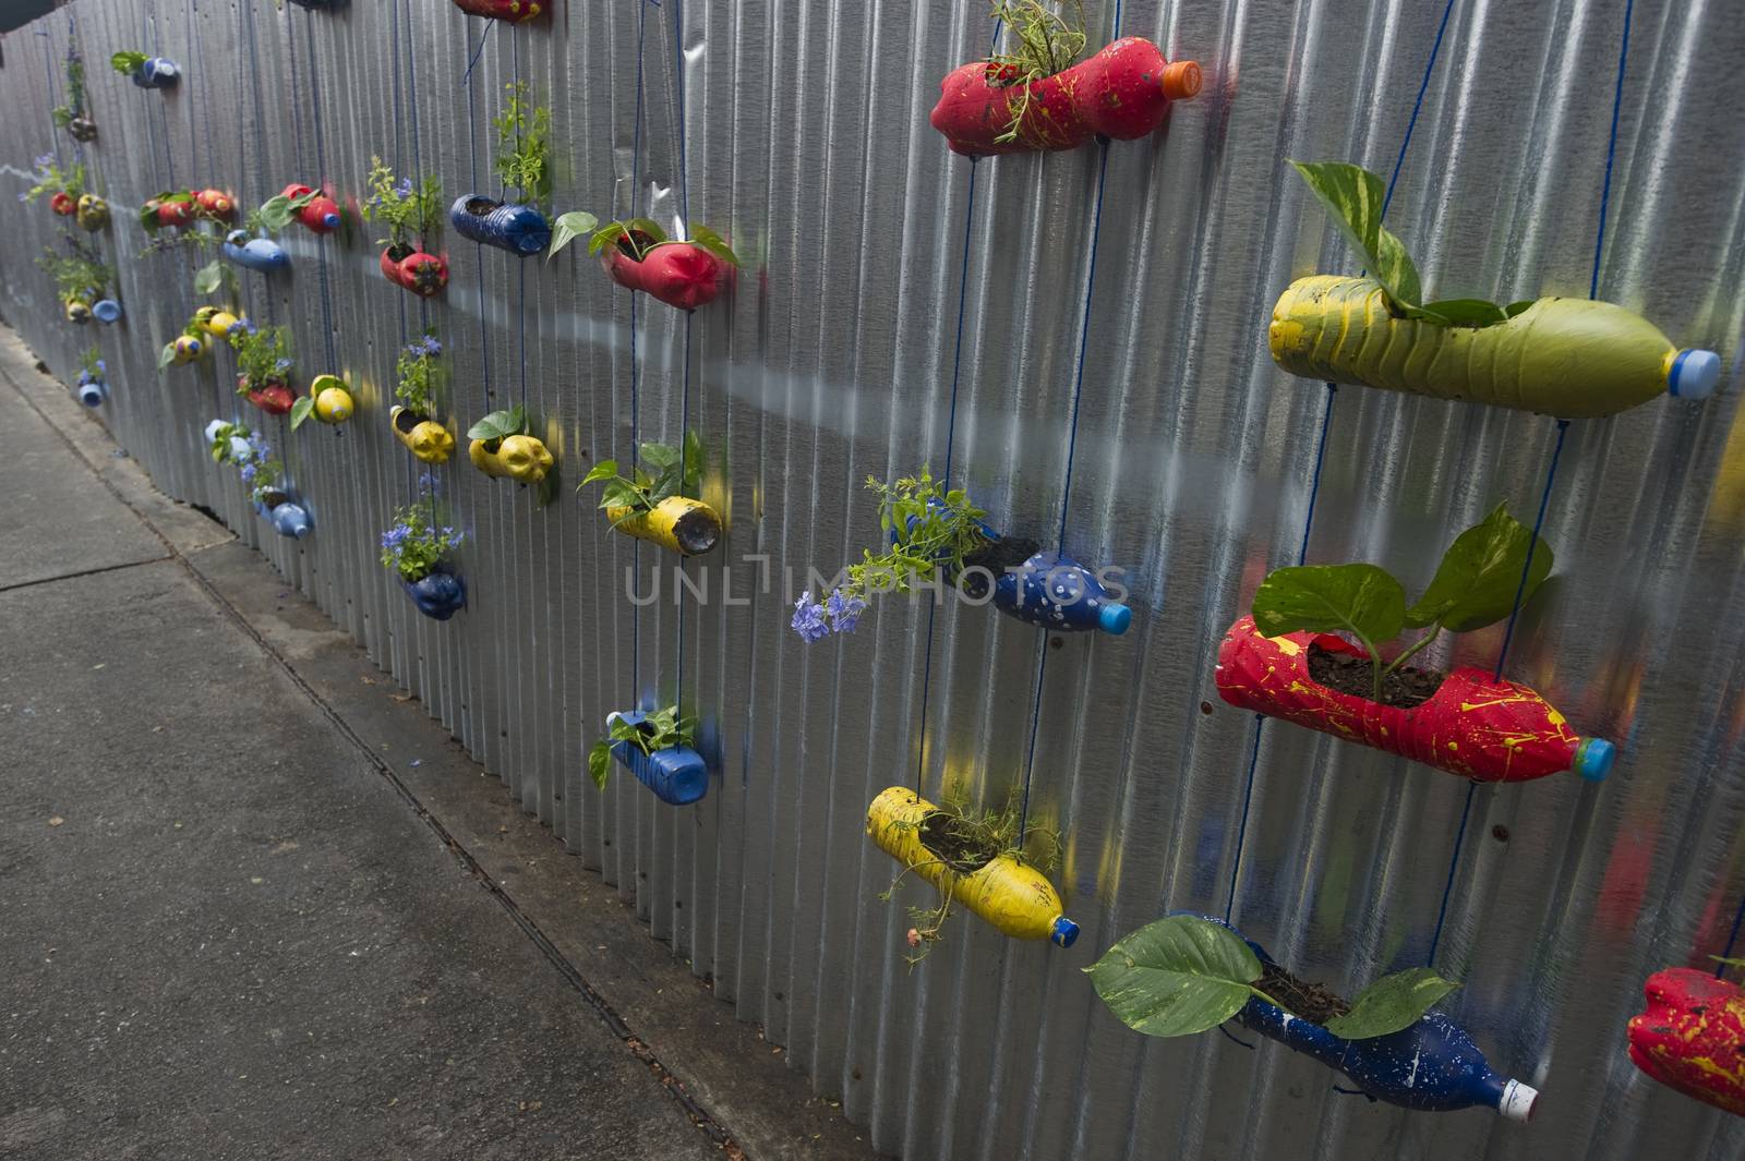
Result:
<svg viewBox="0 0 1745 1161"><path fill-rule="evenodd" d="M1078 924L1061 912L1061 896L1047 875L998 854L974 872L948 870L939 856L921 844L921 825L939 812L932 802L904 786L892 786L867 807L867 837L879 851L913 873L941 887L949 880L951 896L1014 940L1047 940L1071 947Z"/></svg>

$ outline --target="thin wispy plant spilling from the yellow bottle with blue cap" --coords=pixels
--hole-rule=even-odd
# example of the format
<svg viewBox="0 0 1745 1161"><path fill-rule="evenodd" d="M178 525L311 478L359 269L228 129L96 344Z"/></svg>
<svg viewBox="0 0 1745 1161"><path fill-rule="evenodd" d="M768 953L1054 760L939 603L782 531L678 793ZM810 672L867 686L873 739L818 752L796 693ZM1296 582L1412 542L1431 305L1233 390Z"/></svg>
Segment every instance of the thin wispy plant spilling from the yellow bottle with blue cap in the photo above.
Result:
<svg viewBox="0 0 1745 1161"><path fill-rule="evenodd" d="M916 840L934 858L927 863L911 863L897 872L890 887L879 893L881 901L890 901L906 877L923 866L939 868L939 906L911 906L907 933L909 952L904 962L913 969L934 945L944 938L944 926L955 910L953 886L960 875L972 875L1000 856L1010 856L1019 863L1035 866L1044 875L1052 873L1061 858L1061 835L1054 830L1031 826L1023 828L1023 805L1017 790L1007 793L998 807L972 807L961 798L948 797L937 809L928 811L918 821L893 821L893 830L914 830Z"/></svg>

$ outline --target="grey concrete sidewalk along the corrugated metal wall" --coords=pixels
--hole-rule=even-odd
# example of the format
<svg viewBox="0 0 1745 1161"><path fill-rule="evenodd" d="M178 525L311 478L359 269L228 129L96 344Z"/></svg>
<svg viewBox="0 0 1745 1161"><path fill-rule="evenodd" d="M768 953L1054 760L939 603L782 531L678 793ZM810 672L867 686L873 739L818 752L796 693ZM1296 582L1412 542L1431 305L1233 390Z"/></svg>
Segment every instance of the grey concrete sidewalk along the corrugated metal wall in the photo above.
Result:
<svg viewBox="0 0 1745 1161"><path fill-rule="evenodd" d="M0 1158L872 1156L260 556L110 457L0 336Z"/></svg>

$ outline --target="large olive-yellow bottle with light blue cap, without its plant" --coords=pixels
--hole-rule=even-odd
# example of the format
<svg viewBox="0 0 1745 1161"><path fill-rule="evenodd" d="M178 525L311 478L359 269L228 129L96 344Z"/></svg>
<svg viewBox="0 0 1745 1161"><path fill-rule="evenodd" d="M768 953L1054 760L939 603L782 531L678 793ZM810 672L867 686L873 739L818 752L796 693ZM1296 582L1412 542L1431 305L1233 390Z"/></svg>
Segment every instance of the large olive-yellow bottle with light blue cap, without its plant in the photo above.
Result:
<svg viewBox="0 0 1745 1161"><path fill-rule="evenodd" d="M1373 279L1316 274L1290 284L1267 329L1272 361L1304 378L1471 399L1560 418L1598 418L1659 396L1707 399L1712 350L1679 350L1609 302L1541 298L1490 326L1396 319Z"/></svg>

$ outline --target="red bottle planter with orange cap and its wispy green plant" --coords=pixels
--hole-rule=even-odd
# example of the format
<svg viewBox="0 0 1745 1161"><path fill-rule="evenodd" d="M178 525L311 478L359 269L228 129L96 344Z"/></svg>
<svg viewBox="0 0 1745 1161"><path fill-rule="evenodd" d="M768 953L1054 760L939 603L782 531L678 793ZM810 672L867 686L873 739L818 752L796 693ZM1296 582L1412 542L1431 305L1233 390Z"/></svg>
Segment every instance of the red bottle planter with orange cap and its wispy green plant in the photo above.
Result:
<svg viewBox="0 0 1745 1161"><path fill-rule="evenodd" d="M948 73L928 119L965 157L1071 150L1092 136L1131 141L1155 132L1171 101L1199 92L1199 64L1171 64L1139 37L1078 63L1085 49L1080 3L1070 21L1038 0L995 3L993 17L1005 26L1010 51Z"/></svg>

